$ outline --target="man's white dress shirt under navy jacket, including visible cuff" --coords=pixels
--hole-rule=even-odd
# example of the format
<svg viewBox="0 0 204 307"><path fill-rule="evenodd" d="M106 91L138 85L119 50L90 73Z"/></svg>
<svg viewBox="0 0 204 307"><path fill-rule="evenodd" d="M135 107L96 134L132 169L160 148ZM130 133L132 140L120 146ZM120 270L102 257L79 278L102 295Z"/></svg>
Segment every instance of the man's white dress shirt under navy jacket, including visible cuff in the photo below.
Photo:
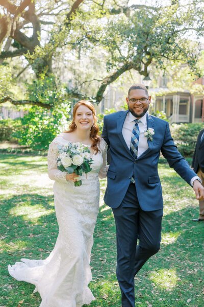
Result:
<svg viewBox="0 0 204 307"><path fill-rule="evenodd" d="M144 131L147 130L146 117L147 117L147 113L145 113L144 116L140 118L140 122L138 123L139 129L140 129L138 155L137 155L138 157L141 156L141 154L145 152L145 150L148 149L147 137L144 136ZM122 127L122 135L129 149L131 147L133 127L135 126L134 120L137 120L137 118L131 112L128 112L124 120L123 127ZM199 180L199 182L201 182L201 179L198 176L194 176L190 182L191 186L193 186L193 182L196 179Z"/></svg>

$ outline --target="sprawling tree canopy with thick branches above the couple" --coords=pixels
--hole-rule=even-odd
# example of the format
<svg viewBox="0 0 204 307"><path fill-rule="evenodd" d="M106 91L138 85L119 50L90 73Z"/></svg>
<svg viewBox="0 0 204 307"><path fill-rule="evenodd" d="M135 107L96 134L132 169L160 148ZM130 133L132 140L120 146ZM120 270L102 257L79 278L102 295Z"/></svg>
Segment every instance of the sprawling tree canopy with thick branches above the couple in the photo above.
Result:
<svg viewBox="0 0 204 307"><path fill-rule="evenodd" d="M199 76L203 20L203 0L0 0L0 103L99 103L124 72L148 76L168 61Z"/></svg>

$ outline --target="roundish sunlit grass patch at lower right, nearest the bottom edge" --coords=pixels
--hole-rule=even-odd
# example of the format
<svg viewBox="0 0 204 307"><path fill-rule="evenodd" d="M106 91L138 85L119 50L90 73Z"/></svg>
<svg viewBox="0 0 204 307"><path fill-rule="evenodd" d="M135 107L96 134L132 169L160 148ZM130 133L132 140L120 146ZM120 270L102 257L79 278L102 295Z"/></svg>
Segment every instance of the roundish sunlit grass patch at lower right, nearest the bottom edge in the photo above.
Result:
<svg viewBox="0 0 204 307"><path fill-rule="evenodd" d="M158 272L153 272L150 279L160 288L171 291L175 288L179 277L176 276L175 269L165 270L161 269Z"/></svg>

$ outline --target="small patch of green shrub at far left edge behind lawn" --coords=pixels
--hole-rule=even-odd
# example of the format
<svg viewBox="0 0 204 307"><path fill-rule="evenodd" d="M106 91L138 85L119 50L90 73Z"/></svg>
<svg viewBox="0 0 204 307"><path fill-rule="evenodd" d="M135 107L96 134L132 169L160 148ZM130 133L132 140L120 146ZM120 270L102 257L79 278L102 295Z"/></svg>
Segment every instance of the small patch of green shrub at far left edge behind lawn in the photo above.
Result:
<svg viewBox="0 0 204 307"><path fill-rule="evenodd" d="M17 121L6 119L0 120L0 141L14 141L13 133L16 129Z"/></svg>

